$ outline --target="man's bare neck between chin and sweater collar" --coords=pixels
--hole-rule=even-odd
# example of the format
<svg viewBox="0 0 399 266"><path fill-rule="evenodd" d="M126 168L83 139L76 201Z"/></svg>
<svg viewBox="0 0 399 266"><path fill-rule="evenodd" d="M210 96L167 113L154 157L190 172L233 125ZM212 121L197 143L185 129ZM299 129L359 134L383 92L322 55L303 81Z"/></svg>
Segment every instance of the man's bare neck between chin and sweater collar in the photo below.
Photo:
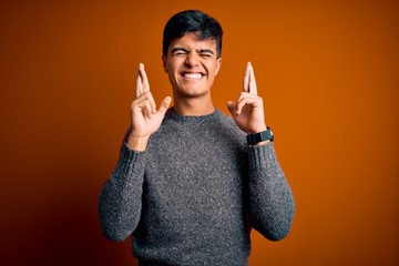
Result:
<svg viewBox="0 0 399 266"><path fill-rule="evenodd" d="M211 96L205 98L174 98L174 110L180 115L207 115L215 111Z"/></svg>

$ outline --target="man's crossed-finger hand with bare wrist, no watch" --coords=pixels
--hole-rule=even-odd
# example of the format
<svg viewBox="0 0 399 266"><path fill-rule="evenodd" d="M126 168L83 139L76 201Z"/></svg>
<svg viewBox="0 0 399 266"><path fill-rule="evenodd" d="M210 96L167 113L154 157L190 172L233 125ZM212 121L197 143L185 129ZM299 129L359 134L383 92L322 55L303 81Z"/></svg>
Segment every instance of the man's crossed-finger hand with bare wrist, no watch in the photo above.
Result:
<svg viewBox="0 0 399 266"><path fill-rule="evenodd" d="M135 151L144 151L147 141L156 132L165 116L165 112L171 105L172 98L166 96L160 109L153 95L150 92L149 79L146 76L144 64L140 63L136 80L136 99L131 105L131 132L127 136L127 145Z"/></svg>

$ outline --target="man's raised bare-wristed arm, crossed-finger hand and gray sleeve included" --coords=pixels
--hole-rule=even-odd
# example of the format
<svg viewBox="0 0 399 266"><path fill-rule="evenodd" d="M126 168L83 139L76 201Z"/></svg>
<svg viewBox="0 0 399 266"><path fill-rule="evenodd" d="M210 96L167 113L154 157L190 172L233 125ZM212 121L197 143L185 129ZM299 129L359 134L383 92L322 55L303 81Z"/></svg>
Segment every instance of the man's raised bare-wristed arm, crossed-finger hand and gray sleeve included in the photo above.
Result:
<svg viewBox="0 0 399 266"><path fill-rule="evenodd" d="M102 231L111 241L124 241L140 222L144 151L150 135L160 127L170 104L171 98L165 98L156 110L144 65L140 64L136 98L131 105L131 129L122 144L116 167L99 198Z"/></svg>

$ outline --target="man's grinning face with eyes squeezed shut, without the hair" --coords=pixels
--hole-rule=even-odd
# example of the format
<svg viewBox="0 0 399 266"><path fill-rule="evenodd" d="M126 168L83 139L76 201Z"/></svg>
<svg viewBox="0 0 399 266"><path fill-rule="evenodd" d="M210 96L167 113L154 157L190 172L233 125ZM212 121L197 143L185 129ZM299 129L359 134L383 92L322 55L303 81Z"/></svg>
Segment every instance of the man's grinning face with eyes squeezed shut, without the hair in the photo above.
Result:
<svg viewBox="0 0 399 266"><path fill-rule="evenodd" d="M200 40L191 32L171 42L163 64L175 95L198 98L211 93L222 59L213 38Z"/></svg>

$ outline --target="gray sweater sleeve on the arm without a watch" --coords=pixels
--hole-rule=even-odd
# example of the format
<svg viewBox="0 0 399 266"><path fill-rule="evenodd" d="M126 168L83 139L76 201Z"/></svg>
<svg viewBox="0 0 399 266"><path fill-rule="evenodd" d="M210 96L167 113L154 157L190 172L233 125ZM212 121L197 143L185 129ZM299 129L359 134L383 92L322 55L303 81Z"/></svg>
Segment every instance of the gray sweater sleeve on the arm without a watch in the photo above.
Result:
<svg viewBox="0 0 399 266"><path fill-rule="evenodd" d="M123 143L116 167L101 191L99 216L103 234L111 241L126 239L139 224L144 155L145 152L130 150Z"/></svg>

